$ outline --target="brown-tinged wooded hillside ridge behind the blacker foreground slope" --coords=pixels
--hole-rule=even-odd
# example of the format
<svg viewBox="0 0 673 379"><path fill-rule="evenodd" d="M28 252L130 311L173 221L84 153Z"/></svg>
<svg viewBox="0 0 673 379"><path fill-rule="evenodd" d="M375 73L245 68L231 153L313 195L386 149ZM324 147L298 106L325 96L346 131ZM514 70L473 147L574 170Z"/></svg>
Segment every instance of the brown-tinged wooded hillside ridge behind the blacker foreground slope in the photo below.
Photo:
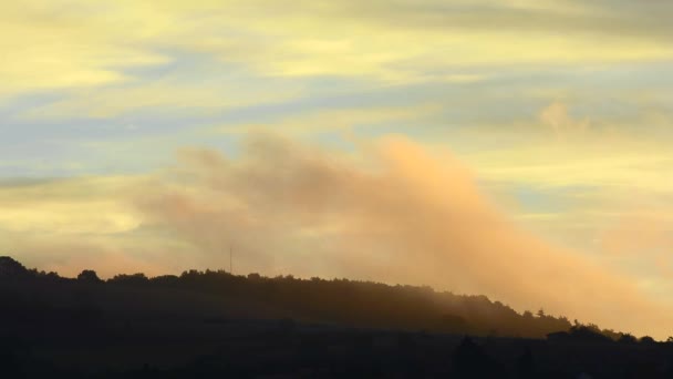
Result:
<svg viewBox="0 0 673 379"><path fill-rule="evenodd" d="M10 298L13 297L14 304L19 305L14 314L7 309L6 318L35 317L22 315L19 309L34 308L35 314L41 315L39 317L49 318L62 318L69 313L89 309L90 320L121 315L161 319L177 315L287 318L352 327L530 338L545 338L549 332L571 327L563 317L556 318L542 311L536 316L530 313L520 315L485 296L348 279L268 278L257 274L234 276L221 270L189 270L180 276L154 278L143 274L117 275L108 280L101 280L94 272L84 270L79 278L71 279L55 273L25 269L8 257L0 260L0 278L4 281L13 278L14 285L21 286L21 291L13 295L7 293L11 286L3 288L3 296L11 295Z"/></svg>

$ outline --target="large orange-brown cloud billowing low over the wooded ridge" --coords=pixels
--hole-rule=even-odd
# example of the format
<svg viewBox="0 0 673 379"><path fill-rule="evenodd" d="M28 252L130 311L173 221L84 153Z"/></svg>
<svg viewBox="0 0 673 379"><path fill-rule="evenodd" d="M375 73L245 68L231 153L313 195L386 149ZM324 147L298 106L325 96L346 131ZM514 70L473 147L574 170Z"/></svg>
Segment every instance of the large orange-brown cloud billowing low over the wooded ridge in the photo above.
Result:
<svg viewBox="0 0 673 379"><path fill-rule="evenodd" d="M222 262L232 246L244 270L429 284L664 334L669 308L622 273L518 229L451 155L403 137L365 152L369 164L354 165L269 137L249 141L242 161L185 151L138 204L148 225L196 244L200 259Z"/></svg>

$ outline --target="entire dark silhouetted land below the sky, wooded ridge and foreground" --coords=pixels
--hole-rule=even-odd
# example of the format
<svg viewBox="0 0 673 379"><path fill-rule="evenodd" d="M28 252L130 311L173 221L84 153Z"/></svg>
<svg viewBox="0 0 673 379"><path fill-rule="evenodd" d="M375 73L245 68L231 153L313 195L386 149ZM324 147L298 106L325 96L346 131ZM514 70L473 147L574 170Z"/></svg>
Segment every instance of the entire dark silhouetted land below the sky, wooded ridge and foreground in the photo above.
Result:
<svg viewBox="0 0 673 379"><path fill-rule="evenodd" d="M0 257L0 378L673 378L672 342L428 288Z"/></svg>

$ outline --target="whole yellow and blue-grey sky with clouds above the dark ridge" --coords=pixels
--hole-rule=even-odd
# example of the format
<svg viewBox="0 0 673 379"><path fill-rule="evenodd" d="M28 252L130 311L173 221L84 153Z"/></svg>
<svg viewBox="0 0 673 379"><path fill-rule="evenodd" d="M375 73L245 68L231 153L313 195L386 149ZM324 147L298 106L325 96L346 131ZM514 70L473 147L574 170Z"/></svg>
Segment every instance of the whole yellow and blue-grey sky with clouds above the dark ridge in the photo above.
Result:
<svg viewBox="0 0 673 379"><path fill-rule="evenodd" d="M673 3L0 3L0 253L673 335ZM670 324L670 322L669 322Z"/></svg>

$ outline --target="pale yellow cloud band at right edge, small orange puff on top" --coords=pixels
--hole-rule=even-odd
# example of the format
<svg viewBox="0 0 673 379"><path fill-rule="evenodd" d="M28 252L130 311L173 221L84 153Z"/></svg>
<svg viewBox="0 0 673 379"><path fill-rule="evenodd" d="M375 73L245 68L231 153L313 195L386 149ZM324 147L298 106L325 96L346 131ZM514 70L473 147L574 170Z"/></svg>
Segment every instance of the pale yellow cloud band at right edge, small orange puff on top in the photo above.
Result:
<svg viewBox="0 0 673 379"><path fill-rule="evenodd" d="M667 148L671 120L649 120L646 113L632 120L576 116L566 103L555 101L537 120L479 125L447 136L456 145L469 143L463 158L483 181L540 190L666 193L673 188L662 175L673 162Z"/></svg>

